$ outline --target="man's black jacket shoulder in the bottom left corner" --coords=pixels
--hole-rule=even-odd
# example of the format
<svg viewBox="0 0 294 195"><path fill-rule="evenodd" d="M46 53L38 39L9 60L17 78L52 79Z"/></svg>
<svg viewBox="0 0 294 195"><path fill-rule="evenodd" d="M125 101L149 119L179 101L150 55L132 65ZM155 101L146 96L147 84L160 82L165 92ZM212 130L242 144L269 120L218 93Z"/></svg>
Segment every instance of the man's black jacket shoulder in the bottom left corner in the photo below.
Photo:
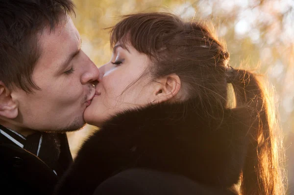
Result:
<svg viewBox="0 0 294 195"><path fill-rule="evenodd" d="M23 188L28 192L50 192L57 176L37 156L9 143L0 143L1 192L15 192ZM25 188L25 189L24 189ZM13 193L12 193L13 194ZM45 193L46 194L46 193Z"/></svg>

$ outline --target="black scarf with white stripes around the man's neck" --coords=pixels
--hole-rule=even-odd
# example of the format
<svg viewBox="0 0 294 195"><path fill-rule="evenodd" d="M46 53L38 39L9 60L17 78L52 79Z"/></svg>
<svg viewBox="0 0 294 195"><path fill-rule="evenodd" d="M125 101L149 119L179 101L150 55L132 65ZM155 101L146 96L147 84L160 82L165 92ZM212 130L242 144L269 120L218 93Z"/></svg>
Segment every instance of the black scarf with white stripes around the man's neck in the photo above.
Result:
<svg viewBox="0 0 294 195"><path fill-rule="evenodd" d="M25 149L25 151L42 160L56 175L61 175L72 162L72 155L65 133L36 131L34 134L25 137L0 125L0 143Z"/></svg>

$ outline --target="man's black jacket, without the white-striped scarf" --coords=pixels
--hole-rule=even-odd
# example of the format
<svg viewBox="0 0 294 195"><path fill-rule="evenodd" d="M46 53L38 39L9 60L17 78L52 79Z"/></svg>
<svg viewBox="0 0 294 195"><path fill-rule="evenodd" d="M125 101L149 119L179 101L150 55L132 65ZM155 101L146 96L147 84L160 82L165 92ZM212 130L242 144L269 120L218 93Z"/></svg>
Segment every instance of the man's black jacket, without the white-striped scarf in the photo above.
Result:
<svg viewBox="0 0 294 195"><path fill-rule="evenodd" d="M60 172L72 162L68 140L60 134ZM64 172L63 171L63 172ZM58 181L40 158L0 136L0 194L1 195L51 195Z"/></svg>

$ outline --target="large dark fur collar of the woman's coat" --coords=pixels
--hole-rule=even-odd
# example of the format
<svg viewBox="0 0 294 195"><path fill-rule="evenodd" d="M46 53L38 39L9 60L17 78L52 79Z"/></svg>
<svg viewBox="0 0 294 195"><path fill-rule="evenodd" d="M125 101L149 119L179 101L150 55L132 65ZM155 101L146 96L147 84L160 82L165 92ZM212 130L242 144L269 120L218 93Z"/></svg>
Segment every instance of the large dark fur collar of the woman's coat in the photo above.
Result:
<svg viewBox="0 0 294 195"><path fill-rule="evenodd" d="M205 185L236 184L248 144L248 125L240 122L244 110L195 102L149 105L114 116L84 143L61 185L90 189L130 168L180 174Z"/></svg>

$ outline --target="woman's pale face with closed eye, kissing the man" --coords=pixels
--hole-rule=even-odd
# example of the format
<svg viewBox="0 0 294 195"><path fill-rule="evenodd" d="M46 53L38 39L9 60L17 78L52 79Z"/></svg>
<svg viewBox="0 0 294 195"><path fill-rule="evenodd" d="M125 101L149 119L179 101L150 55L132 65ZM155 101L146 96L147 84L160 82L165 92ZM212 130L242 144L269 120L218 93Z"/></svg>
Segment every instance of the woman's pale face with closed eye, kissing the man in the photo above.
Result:
<svg viewBox="0 0 294 195"><path fill-rule="evenodd" d="M152 82L148 73L141 77L149 63L147 55L140 54L133 46L124 49L117 43L110 61L99 68L97 95L84 112L85 121L100 126L118 112L152 102L156 98L156 82Z"/></svg>

